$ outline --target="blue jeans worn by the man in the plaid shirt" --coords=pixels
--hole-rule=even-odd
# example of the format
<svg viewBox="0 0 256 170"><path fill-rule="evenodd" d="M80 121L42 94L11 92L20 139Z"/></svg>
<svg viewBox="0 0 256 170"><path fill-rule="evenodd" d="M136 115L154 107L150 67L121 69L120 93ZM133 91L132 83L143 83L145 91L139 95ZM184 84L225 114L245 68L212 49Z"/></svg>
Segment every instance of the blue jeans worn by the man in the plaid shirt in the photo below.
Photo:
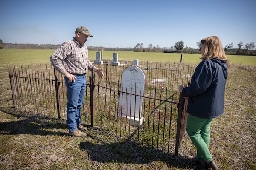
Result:
<svg viewBox="0 0 256 170"><path fill-rule="evenodd" d="M75 77L75 82L68 82L68 78L64 78L67 87L67 125L70 132L77 130L77 126L81 124L80 111L86 90L86 75Z"/></svg>

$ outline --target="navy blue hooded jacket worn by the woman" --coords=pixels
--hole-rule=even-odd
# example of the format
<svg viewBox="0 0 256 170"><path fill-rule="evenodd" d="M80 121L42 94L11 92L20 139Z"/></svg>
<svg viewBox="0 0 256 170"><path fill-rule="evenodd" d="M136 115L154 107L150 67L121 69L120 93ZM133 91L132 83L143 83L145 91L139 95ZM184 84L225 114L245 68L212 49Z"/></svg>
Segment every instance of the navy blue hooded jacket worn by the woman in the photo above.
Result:
<svg viewBox="0 0 256 170"><path fill-rule="evenodd" d="M187 113L200 118L221 116L227 80L226 61L205 59L195 68L190 87L183 88L188 97Z"/></svg>

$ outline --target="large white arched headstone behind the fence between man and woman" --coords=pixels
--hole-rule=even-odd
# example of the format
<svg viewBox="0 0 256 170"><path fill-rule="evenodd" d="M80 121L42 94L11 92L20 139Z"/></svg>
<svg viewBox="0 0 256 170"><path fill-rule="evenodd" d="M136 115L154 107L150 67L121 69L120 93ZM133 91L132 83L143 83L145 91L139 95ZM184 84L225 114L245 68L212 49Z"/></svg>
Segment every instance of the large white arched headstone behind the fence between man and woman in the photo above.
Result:
<svg viewBox="0 0 256 170"><path fill-rule="evenodd" d="M127 91L126 91L127 90ZM143 122L142 107L145 91L145 73L138 66L129 66L125 68L121 77L118 113L122 117L131 119L131 124L138 126ZM131 93L131 94L127 94ZM134 94L134 95L133 95ZM135 96L139 95L139 96Z"/></svg>

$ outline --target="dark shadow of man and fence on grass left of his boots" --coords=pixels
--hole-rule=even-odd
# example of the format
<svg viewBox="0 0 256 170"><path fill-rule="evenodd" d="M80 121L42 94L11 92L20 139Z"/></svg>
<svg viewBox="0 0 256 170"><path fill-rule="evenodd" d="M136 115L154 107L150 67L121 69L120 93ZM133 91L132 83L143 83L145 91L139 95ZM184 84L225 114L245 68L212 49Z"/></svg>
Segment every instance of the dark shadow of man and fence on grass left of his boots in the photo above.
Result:
<svg viewBox="0 0 256 170"><path fill-rule="evenodd" d="M12 116L8 118L1 116L0 134L68 135L68 133L61 132L67 130L67 124L64 120L41 116L16 108L1 107L0 111ZM17 119L12 121L14 117ZM11 119L11 121L3 121L3 119Z"/></svg>

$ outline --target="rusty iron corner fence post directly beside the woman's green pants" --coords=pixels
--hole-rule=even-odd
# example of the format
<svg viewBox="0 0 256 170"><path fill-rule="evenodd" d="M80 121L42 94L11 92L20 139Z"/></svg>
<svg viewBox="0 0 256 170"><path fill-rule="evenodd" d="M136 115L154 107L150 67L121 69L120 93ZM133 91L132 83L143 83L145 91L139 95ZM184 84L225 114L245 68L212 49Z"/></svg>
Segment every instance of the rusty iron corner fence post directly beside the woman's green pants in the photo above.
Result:
<svg viewBox="0 0 256 170"><path fill-rule="evenodd" d="M184 106L185 106L185 98L183 94L180 93L179 106L178 106L179 108L178 108L178 119L177 119L176 144L175 144L176 156L179 153L180 143L186 128L187 114L184 112Z"/></svg>

